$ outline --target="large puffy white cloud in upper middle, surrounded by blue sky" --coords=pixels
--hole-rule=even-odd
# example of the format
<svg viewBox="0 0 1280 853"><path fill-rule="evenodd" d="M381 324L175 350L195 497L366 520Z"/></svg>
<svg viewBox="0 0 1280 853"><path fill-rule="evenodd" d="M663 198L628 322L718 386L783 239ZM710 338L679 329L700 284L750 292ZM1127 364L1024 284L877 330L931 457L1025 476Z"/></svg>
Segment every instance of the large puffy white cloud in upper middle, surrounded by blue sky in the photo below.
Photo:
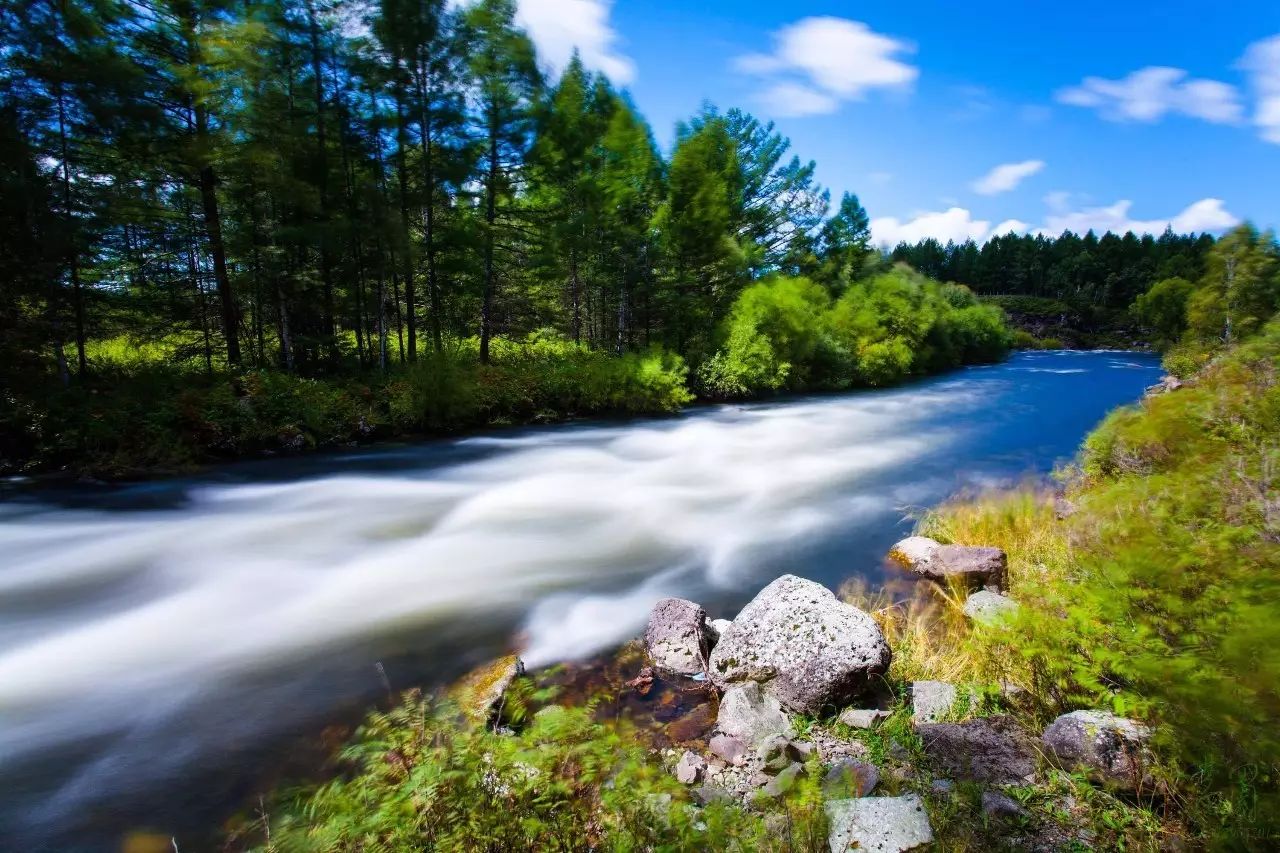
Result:
<svg viewBox="0 0 1280 853"><path fill-rule="evenodd" d="M908 87L920 73L901 59L914 46L847 18L801 18L773 42L773 53L739 56L733 67L768 81L763 99L777 115L833 113L870 90Z"/></svg>

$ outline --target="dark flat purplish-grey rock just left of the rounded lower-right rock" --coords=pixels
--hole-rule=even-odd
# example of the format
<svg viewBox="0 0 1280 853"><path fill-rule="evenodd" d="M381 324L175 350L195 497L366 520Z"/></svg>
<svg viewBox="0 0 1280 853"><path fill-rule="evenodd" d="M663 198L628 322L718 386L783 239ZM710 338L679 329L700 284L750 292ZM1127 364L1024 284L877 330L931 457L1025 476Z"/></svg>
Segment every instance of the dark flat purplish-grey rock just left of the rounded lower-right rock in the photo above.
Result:
<svg viewBox="0 0 1280 853"><path fill-rule="evenodd" d="M924 754L952 779L1020 785L1036 775L1036 744L1010 716L918 725Z"/></svg>

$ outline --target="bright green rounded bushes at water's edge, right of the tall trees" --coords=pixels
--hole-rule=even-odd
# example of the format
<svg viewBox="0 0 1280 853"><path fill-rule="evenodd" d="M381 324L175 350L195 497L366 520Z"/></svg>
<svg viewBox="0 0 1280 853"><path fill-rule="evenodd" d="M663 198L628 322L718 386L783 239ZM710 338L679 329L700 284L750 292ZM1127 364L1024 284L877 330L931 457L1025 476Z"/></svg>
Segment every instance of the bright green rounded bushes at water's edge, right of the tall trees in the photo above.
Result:
<svg viewBox="0 0 1280 853"><path fill-rule="evenodd" d="M998 309L905 268L855 282L835 301L806 278L765 279L735 301L723 339L698 373L713 397L886 386L996 361L1012 342Z"/></svg>

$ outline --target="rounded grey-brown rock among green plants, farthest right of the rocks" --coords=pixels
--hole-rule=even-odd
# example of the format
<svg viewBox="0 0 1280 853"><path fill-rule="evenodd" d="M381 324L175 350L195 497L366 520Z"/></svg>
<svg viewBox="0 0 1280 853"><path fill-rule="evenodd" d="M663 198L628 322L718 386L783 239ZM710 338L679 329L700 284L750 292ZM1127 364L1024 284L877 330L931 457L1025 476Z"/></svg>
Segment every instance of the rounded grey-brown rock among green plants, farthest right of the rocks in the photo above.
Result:
<svg viewBox="0 0 1280 853"><path fill-rule="evenodd" d="M1106 711L1064 713L1044 730L1044 752L1066 770L1085 770L1108 785L1137 790L1146 780L1151 730Z"/></svg>

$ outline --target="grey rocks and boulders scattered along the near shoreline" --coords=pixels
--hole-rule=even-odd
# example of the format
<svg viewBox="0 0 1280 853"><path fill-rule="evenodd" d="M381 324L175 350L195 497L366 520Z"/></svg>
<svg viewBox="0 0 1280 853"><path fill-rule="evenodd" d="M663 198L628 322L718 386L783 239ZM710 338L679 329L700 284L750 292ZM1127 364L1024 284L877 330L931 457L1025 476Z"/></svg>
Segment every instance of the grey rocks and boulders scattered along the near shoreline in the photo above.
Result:
<svg viewBox="0 0 1280 853"><path fill-rule="evenodd" d="M1016 617L998 548L910 537L890 558L956 596L975 629L1000 630ZM933 841L931 806L957 786L980 795L987 830L1006 847L1087 848L1073 803L1061 803L1062 820L1052 822L1033 818L1019 795L1052 770L1123 795L1151 786L1151 733L1140 722L1082 708L1033 731L1007 712L1016 685L922 680L895 689L886 678L893 651L873 615L794 575L764 587L733 620L712 620L691 601L658 602L643 656L626 692L643 699L666 685L659 707L669 694L696 697L654 751L692 802L753 808L785 797L801 776L817 780L835 852ZM471 707L500 726L503 690L522 675L509 657L474 676Z"/></svg>

